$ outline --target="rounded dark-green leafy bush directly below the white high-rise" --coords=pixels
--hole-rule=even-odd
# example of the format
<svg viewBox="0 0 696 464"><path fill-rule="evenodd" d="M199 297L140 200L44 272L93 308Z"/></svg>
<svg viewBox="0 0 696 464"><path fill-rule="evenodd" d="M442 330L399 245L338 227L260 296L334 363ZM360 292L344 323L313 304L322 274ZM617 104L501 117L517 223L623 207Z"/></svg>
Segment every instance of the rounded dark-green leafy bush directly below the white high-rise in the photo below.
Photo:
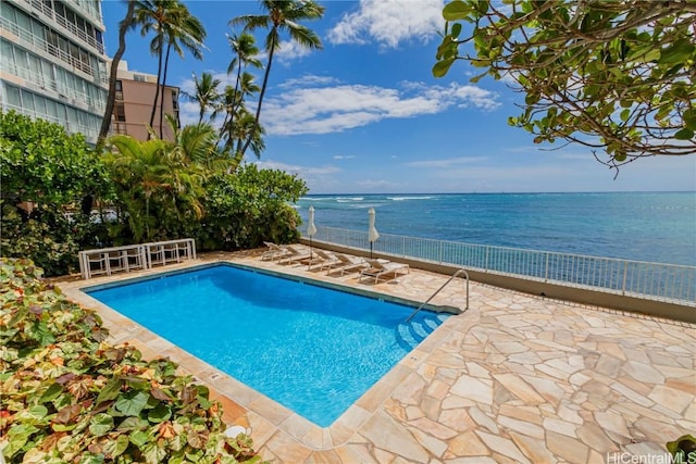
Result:
<svg viewBox="0 0 696 464"><path fill-rule="evenodd" d="M50 274L75 271L77 251L105 237L92 201L112 197L109 175L80 135L0 112L0 254L32 256Z"/></svg>

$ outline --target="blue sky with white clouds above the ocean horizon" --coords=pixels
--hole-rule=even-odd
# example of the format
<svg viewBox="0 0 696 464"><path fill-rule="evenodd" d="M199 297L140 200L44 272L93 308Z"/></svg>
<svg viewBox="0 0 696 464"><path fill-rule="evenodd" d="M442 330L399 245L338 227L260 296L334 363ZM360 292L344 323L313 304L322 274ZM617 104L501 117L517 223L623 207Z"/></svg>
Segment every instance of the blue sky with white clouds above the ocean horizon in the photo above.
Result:
<svg viewBox="0 0 696 464"><path fill-rule="evenodd" d="M261 124L265 151L246 161L297 174L310 193L563 192L696 190L696 154L652 156L616 172L580 145L535 145L509 116L523 95L467 63L433 77L442 0L319 1L322 20L306 22L323 49L304 51L283 36L271 68ZM187 1L206 26L203 60L170 60L167 84L192 89L191 74L226 75L233 59L228 22L263 14L257 1ZM102 3L107 53L117 48L125 3ZM263 43L259 30L257 43ZM127 36L132 71L157 74L151 37ZM262 57L265 63L265 57ZM262 81L262 72L256 72ZM223 86L224 86L223 84ZM251 109L253 103L249 103ZM182 123L198 106L181 101Z"/></svg>

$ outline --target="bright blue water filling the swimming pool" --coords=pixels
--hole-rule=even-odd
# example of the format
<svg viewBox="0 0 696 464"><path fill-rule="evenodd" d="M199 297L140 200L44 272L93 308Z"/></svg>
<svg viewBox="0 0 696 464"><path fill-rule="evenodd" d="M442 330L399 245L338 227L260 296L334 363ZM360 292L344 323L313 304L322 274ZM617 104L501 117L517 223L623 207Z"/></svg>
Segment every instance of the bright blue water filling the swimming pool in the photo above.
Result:
<svg viewBox="0 0 696 464"><path fill-rule="evenodd" d="M447 317L224 264L87 293L321 427Z"/></svg>

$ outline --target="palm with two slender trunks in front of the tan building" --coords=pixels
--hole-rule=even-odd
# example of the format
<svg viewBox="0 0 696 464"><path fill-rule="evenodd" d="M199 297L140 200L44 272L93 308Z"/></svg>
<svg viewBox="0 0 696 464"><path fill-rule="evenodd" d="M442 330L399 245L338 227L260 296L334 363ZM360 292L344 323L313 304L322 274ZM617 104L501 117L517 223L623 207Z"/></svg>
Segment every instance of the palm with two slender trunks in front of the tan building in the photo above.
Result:
<svg viewBox="0 0 696 464"><path fill-rule="evenodd" d="M158 99L160 93L162 98L164 96L166 66L171 49L174 48L177 54L183 57L184 48L186 48L192 52L195 58L202 58L200 49L206 37L206 29L197 17L191 16L186 5L179 0L135 0L135 22L141 26L141 35L146 36L150 32L154 32L154 38L150 42L150 52L158 57L158 89L154 92L152 112L150 113L150 126L152 126ZM165 49L166 60L163 63ZM162 115L160 114L160 135L161 129Z"/></svg>

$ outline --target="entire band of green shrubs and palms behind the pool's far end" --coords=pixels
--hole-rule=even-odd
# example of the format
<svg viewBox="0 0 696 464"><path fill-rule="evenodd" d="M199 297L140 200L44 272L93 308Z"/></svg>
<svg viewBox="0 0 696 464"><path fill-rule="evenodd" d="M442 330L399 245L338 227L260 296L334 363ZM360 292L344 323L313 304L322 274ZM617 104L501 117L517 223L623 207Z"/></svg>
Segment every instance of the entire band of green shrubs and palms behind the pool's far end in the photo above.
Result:
<svg viewBox="0 0 696 464"><path fill-rule="evenodd" d="M117 135L98 156L60 125L0 115L4 256L62 275L88 248L190 237L202 250L234 250L298 239L289 203L306 184L238 165L210 124L179 129L167 118L173 140Z"/></svg>

